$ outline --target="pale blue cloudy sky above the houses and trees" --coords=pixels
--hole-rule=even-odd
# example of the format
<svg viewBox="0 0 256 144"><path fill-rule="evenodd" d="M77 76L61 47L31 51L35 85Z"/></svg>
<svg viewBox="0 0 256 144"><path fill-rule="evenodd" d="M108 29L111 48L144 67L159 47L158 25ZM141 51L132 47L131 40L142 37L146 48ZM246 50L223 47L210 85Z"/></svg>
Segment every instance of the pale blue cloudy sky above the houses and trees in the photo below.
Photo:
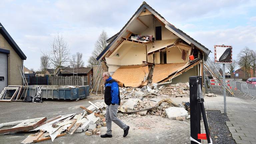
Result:
<svg viewBox="0 0 256 144"><path fill-rule="evenodd" d="M102 30L117 33L143 1L107 0L1 0L0 22L27 56L24 65L40 67L41 51L59 32L71 55L82 52L87 60ZM245 46L256 50L255 0L146 1L169 23L213 50L233 46L236 59ZM210 54L213 57L213 53Z"/></svg>

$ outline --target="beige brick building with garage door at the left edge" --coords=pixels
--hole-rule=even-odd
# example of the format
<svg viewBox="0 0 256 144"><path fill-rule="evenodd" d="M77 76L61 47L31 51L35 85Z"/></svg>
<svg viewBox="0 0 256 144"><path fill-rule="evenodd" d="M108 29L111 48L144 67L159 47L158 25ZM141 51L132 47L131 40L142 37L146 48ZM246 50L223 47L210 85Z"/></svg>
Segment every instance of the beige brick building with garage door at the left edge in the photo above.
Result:
<svg viewBox="0 0 256 144"><path fill-rule="evenodd" d="M27 57L0 23L0 91L8 85L23 85L20 68Z"/></svg>

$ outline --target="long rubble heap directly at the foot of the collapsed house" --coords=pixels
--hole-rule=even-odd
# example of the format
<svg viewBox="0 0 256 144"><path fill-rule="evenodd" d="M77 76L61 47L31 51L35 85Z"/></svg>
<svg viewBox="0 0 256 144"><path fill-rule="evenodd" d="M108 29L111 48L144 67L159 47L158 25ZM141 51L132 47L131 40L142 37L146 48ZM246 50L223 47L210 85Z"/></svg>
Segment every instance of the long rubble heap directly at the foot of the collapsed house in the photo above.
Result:
<svg viewBox="0 0 256 144"><path fill-rule="evenodd" d="M121 87L120 98L155 97L155 96L189 96L189 83L177 83L168 86L144 86L142 88Z"/></svg>

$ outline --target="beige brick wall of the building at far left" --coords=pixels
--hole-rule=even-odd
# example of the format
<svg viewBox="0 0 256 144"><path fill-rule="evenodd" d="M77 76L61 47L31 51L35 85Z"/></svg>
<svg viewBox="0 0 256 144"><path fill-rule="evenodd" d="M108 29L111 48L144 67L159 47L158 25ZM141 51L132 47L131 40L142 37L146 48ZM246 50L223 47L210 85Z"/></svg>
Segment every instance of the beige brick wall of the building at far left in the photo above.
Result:
<svg viewBox="0 0 256 144"><path fill-rule="evenodd" d="M22 77L19 71L19 65L22 66L22 59L1 34L0 48L10 51L10 54L8 54L8 85L22 85Z"/></svg>

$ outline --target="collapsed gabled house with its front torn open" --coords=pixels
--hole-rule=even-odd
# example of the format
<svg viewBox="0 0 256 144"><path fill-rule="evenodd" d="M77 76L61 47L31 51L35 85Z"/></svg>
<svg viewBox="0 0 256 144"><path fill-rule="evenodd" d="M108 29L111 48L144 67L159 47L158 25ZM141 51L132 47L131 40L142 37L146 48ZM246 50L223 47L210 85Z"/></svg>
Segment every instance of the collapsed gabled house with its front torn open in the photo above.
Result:
<svg viewBox="0 0 256 144"><path fill-rule="evenodd" d="M107 42L97 60L125 87L188 82L189 76L203 75L210 53L146 2Z"/></svg>

